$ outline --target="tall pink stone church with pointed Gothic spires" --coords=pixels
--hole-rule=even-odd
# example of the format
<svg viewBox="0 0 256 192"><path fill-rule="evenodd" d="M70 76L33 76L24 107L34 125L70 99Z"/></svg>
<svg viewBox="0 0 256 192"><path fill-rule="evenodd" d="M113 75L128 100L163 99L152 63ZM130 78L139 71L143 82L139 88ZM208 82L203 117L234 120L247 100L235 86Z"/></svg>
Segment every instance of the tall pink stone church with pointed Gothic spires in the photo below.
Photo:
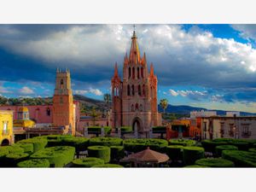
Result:
<svg viewBox="0 0 256 192"><path fill-rule="evenodd" d="M143 133L150 126L161 125L157 108L157 77L151 63L148 73L146 54L141 57L136 32L131 37L129 57L125 54L123 80L117 63L112 84L112 127L132 126Z"/></svg>

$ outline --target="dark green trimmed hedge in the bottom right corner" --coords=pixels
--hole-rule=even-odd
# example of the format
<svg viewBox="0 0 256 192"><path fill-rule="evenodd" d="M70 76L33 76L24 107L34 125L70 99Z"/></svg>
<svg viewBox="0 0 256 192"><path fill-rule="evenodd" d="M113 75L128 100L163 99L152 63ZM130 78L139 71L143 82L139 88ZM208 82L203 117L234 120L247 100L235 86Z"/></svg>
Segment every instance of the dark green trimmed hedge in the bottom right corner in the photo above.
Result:
<svg viewBox="0 0 256 192"><path fill-rule="evenodd" d="M256 154L240 150L224 150L222 158L231 160L237 167L256 167Z"/></svg>

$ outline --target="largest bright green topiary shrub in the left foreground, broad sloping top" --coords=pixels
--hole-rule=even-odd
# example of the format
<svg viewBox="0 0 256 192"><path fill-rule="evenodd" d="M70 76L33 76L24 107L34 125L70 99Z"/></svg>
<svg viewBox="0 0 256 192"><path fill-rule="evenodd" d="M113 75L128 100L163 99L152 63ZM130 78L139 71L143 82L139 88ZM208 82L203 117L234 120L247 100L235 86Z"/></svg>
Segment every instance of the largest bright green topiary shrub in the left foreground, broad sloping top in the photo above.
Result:
<svg viewBox="0 0 256 192"><path fill-rule="evenodd" d="M44 148L31 155L34 159L47 159L50 166L62 167L67 165L73 160L75 153L74 147L69 146L55 146Z"/></svg>

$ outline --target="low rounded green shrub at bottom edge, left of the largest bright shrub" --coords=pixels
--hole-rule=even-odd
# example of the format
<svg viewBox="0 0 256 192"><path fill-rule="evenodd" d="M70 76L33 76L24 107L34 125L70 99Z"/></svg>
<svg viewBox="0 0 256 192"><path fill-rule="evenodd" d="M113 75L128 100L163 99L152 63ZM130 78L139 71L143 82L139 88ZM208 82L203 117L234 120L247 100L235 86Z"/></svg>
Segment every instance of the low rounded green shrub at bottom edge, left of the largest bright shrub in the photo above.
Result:
<svg viewBox="0 0 256 192"><path fill-rule="evenodd" d="M49 167L49 160L46 159L32 159L20 161L17 164L20 168L40 168L40 167Z"/></svg>

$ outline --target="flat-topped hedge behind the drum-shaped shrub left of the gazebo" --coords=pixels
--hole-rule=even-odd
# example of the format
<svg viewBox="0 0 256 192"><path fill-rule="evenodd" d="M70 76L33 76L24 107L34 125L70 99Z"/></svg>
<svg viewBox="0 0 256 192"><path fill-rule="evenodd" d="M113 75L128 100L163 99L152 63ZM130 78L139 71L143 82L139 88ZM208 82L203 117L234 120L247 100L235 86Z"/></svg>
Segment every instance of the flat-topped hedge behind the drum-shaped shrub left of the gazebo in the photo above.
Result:
<svg viewBox="0 0 256 192"><path fill-rule="evenodd" d="M90 146L119 146L123 144L123 139L117 137L94 137L90 138Z"/></svg>

